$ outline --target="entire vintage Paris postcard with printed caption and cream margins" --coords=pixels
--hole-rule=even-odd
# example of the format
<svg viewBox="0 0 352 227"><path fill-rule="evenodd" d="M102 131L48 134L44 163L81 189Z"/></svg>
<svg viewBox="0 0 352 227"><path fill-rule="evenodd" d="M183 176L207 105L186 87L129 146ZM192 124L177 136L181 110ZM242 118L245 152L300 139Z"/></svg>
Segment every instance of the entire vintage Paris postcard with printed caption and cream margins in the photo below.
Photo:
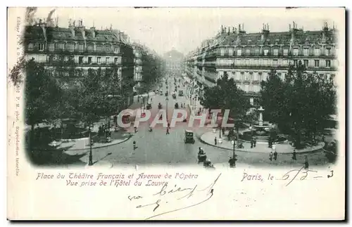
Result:
<svg viewBox="0 0 352 227"><path fill-rule="evenodd" d="M344 220L345 8L8 8L10 220Z"/></svg>

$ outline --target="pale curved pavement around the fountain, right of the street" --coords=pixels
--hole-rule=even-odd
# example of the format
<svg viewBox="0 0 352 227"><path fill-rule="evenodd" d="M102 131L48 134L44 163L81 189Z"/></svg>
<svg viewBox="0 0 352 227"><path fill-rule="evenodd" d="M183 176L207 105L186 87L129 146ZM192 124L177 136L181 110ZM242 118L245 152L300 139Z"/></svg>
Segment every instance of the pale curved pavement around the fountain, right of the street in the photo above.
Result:
<svg viewBox="0 0 352 227"><path fill-rule="evenodd" d="M201 135L200 140L203 143L212 145L217 148L233 150L233 145L230 141L227 141L227 136L222 136L222 143L217 143L217 145L215 145L214 143L215 136L219 138L218 131L215 133L213 131L208 131ZM242 152L251 152L251 153L270 153L270 151L272 151L271 148L268 148L268 144L265 144L265 143L257 143L256 148L251 148L251 143L248 143L248 142L244 142L243 145L244 145L243 149L235 148L235 150L242 151ZM296 150L296 153L313 153L323 148L324 145L325 143L320 142L318 143L318 145L303 148L301 150ZM294 152L294 148L288 143L279 143L276 145L276 151L279 154L291 154Z"/></svg>

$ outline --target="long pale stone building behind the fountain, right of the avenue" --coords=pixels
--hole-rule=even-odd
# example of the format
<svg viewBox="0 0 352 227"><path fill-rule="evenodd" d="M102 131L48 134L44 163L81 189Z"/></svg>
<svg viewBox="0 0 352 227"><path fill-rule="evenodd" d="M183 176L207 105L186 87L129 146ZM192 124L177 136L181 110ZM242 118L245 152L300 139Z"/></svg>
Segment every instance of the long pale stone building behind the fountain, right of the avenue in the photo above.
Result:
<svg viewBox="0 0 352 227"><path fill-rule="evenodd" d="M298 29L296 23L287 32L270 32L264 25L261 32L247 34L244 25L238 29L221 27L214 39L203 41L200 48L186 58L187 74L205 86L213 86L227 72L240 89L258 105L260 82L274 69L282 79L289 65L306 65L308 73L334 79L337 73L337 29L325 22L320 31Z"/></svg>

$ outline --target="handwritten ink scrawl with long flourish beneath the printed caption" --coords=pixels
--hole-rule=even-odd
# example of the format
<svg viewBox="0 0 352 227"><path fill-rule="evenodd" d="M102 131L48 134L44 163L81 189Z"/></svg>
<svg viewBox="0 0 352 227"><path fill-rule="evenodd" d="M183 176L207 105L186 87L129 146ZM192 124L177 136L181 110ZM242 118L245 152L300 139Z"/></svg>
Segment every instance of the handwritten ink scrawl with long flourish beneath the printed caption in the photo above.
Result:
<svg viewBox="0 0 352 227"><path fill-rule="evenodd" d="M191 205L188 205L186 207L180 207L179 209L172 209L168 212L162 212L162 213L159 213L159 214L155 214L153 216L149 216L146 220L148 219L152 219L156 216L161 216L163 214L169 214L169 213L172 213L172 212L177 212L177 211L180 211L182 209L187 209L187 208L190 208L190 207L195 207L197 205L201 205L202 203L210 200L211 197L213 197L213 193L214 193L214 186L215 186L215 183L218 181L218 179L220 178L221 174L218 175L218 177L212 182L210 183L210 185L206 188L203 188L203 189L198 189L198 185L195 185L193 188L180 188L180 187L177 187L175 186L175 188L168 188L168 184L165 184L161 190L158 191L158 193L155 193L153 194L152 196L158 196L158 200L156 200L156 202L152 202L150 204L146 204L146 205L138 205L136 208L144 208L144 207L152 207L153 208L153 212L156 212L156 210L161 207L161 205L168 205L168 201L165 201L163 200L165 195L170 195L170 194L175 194L175 195L180 195L182 193L186 193L186 195L180 195L181 197L178 197L177 200L183 200L183 199L189 199L189 197L192 197L193 195L196 195L196 193L198 192L201 192L201 191L206 191L208 190L208 193L206 193L206 197L199 201L199 202L196 202L194 204L191 204ZM130 201L132 200L139 200L139 199L142 199L143 197L140 196L140 195L129 195L127 197Z"/></svg>

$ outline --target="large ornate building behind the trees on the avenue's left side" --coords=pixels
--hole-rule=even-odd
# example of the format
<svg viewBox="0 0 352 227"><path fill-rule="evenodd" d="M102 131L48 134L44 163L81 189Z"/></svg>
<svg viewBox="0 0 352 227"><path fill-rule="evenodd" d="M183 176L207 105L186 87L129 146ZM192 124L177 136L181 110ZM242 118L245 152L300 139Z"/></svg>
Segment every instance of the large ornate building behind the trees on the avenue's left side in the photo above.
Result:
<svg viewBox="0 0 352 227"><path fill-rule="evenodd" d="M61 73L73 81L76 77L87 75L89 69L115 67L123 96L127 97L122 103L125 106L132 104L132 86L123 86L133 83L134 77L134 53L126 34L112 27L106 30L87 29L82 20L77 25L70 20L68 27L44 21L37 20L25 27L25 58L44 63L53 76ZM58 64L66 70L56 72Z"/></svg>

